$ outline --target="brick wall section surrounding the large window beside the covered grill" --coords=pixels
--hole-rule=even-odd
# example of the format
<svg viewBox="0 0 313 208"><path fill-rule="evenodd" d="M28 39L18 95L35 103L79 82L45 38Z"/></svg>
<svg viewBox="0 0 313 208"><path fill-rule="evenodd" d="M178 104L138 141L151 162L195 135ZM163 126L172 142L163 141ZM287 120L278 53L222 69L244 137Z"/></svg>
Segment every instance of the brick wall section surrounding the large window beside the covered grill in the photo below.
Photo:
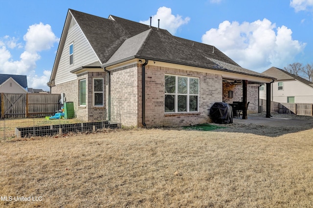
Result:
<svg viewBox="0 0 313 208"><path fill-rule="evenodd" d="M165 74L200 78L200 107L198 113L164 113ZM174 68L146 66L146 125L182 126L210 122L212 104L222 101L222 76Z"/></svg>

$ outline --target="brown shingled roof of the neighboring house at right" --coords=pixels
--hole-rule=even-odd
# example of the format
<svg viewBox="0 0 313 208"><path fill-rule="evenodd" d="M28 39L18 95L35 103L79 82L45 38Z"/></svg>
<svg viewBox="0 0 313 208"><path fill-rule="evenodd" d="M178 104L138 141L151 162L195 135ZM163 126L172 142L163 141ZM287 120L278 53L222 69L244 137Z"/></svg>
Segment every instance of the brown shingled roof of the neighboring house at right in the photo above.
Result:
<svg viewBox="0 0 313 208"><path fill-rule="evenodd" d="M285 71L283 69L277 68L277 67L270 67L268 70L262 72L262 74L274 77L277 79L277 81L283 81L283 80L298 80L301 83L307 84L311 87L313 87L313 83L298 76L289 73L288 71Z"/></svg>

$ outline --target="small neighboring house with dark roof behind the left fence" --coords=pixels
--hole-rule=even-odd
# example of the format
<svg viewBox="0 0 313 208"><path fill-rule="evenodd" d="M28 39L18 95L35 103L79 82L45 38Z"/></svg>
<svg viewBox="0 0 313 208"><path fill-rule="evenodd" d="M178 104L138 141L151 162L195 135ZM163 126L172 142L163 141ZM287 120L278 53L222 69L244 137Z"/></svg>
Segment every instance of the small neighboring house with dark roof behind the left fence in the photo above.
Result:
<svg viewBox="0 0 313 208"><path fill-rule="evenodd" d="M25 75L0 74L0 93L27 93Z"/></svg>

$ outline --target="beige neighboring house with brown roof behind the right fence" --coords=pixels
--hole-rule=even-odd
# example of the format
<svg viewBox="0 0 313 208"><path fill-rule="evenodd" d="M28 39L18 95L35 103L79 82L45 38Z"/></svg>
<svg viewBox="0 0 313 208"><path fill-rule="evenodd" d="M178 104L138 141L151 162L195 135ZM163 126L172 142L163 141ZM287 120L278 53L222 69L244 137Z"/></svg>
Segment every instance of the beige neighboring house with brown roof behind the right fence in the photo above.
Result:
<svg viewBox="0 0 313 208"><path fill-rule="evenodd" d="M271 67L262 74L276 78L271 83L271 101L313 104L313 83L283 69ZM260 87L260 98L266 99L266 86Z"/></svg>

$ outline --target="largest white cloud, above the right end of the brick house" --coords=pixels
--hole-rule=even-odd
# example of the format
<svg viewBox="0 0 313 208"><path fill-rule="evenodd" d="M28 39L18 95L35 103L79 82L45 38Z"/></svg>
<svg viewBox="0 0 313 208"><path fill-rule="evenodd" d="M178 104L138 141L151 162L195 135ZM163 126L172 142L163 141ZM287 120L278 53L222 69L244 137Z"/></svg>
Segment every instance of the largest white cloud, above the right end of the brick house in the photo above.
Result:
<svg viewBox="0 0 313 208"><path fill-rule="evenodd" d="M254 22L224 21L202 36L202 42L223 51L239 65L262 72L270 66L283 67L303 52L306 43L292 40L292 31L267 19Z"/></svg>

